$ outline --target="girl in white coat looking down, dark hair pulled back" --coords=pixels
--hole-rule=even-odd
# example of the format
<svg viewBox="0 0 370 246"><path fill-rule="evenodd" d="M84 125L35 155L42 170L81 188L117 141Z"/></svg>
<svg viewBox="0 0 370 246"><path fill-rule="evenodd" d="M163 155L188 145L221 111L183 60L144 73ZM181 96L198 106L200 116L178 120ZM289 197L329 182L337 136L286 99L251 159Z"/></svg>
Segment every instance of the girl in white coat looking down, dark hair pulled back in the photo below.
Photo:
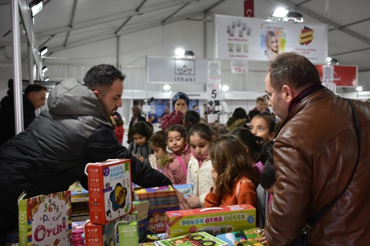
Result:
<svg viewBox="0 0 370 246"><path fill-rule="evenodd" d="M216 134L209 125L204 123L194 124L187 133L191 156L187 165L186 183L192 185L193 195L187 198L191 208L204 207L205 195L213 186L210 170L212 163L208 157L208 148Z"/></svg>

